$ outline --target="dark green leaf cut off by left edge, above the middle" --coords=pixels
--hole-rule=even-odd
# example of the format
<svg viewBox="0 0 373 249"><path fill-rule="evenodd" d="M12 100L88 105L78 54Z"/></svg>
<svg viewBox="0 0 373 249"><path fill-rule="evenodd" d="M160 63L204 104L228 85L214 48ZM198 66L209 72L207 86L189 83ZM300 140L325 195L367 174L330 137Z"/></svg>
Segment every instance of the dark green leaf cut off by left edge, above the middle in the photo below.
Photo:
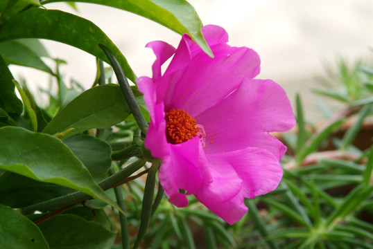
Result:
<svg viewBox="0 0 373 249"><path fill-rule="evenodd" d="M0 108L9 114L21 115L23 104L15 95L15 84L6 62L0 55Z"/></svg>

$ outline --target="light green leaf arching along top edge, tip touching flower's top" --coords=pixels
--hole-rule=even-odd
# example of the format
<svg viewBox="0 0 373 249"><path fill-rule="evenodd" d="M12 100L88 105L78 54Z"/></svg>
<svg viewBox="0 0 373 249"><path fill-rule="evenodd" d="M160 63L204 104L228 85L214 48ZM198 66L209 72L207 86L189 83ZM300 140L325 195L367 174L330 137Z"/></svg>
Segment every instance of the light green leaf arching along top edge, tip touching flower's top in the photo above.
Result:
<svg viewBox="0 0 373 249"><path fill-rule="evenodd" d="M53 3L63 0L47 0L45 3ZM73 2L97 3L105 6L127 10L141 15L158 24L170 28L179 34L187 33L197 44L212 56L211 49L207 45L201 33L202 21L196 10L185 0L72 0Z"/></svg>

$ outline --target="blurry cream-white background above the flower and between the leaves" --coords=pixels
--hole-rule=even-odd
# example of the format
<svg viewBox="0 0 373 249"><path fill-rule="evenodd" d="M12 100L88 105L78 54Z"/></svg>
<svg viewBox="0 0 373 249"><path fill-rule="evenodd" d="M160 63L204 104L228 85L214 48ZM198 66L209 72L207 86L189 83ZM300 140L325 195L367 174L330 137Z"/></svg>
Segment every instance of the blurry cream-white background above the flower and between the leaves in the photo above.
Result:
<svg viewBox="0 0 373 249"><path fill-rule="evenodd" d="M270 78L284 87L294 103L295 93L302 95L306 116L321 119L310 89L317 87L316 76L325 67L337 68L345 59L372 62L372 0L189 0L203 24L222 26L229 34L229 45L248 46L261 56L259 78ZM177 46L180 35L130 12L88 3L76 3L78 12L65 3L46 5L84 17L99 26L127 57L137 76L151 75L155 59L144 48L153 40ZM83 7L84 8L80 8ZM82 50L58 42L43 40L51 57L67 61L62 75L86 88L96 75L95 58ZM54 67L53 61L46 63ZM11 66L17 79L28 79L33 92L49 81L49 75L21 66ZM37 96L37 95L36 95ZM338 103L329 103L338 109Z"/></svg>

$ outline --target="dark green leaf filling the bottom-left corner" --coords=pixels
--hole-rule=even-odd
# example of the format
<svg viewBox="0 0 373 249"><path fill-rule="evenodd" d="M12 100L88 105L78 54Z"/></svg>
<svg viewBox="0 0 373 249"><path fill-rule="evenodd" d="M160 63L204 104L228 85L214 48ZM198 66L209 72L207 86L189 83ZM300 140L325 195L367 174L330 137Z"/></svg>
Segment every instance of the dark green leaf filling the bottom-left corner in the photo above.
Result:
<svg viewBox="0 0 373 249"><path fill-rule="evenodd" d="M19 212L0 205L0 248L49 249L40 229Z"/></svg>

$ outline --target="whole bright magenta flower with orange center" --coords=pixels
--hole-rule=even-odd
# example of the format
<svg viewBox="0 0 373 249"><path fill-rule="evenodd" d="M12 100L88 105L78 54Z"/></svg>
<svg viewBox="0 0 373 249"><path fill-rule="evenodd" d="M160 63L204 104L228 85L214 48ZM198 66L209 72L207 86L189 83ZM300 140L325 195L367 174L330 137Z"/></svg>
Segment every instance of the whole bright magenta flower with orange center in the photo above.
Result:
<svg viewBox="0 0 373 249"><path fill-rule="evenodd" d="M162 158L159 180L169 201L188 204L194 194L227 223L242 218L244 198L275 190L286 147L268 132L295 124L284 89L254 79L260 59L250 48L227 45L219 26L202 33L214 58L183 35L177 49L150 42L157 57L153 78L140 77L150 113L145 145ZM162 75L161 66L173 56Z"/></svg>

